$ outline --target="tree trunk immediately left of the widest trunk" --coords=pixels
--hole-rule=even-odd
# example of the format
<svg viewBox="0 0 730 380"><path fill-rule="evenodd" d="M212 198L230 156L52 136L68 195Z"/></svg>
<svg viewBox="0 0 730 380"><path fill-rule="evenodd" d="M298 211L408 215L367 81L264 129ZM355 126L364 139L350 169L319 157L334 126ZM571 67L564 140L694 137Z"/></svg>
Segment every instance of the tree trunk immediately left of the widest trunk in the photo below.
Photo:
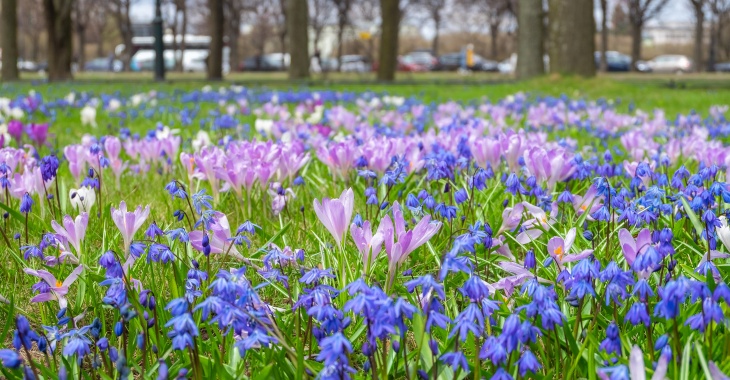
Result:
<svg viewBox="0 0 730 380"><path fill-rule="evenodd" d="M517 10L517 78L543 75L542 0L522 0Z"/></svg>

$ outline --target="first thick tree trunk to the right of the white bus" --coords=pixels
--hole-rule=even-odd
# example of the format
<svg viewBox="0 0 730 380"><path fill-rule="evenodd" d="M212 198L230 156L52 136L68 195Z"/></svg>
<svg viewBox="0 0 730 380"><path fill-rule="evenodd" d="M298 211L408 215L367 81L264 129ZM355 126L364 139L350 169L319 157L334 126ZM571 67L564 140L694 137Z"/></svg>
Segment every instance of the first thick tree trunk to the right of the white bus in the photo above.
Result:
<svg viewBox="0 0 730 380"><path fill-rule="evenodd" d="M288 0L289 79L309 78L309 10L307 0Z"/></svg>

